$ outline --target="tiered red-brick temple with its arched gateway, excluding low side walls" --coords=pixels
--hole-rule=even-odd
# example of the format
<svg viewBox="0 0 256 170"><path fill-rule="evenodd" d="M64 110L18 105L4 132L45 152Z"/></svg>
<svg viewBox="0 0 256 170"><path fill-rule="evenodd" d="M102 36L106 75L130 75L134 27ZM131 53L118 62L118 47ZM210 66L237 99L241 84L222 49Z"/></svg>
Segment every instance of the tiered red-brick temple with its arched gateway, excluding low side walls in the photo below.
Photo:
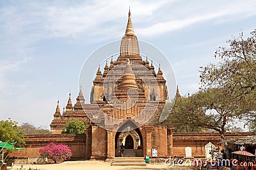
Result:
<svg viewBox="0 0 256 170"><path fill-rule="evenodd" d="M172 128L157 123L168 100L168 90L161 67L157 69L156 73L153 62L140 56L129 11L120 54L116 60L111 58L109 66L106 62L104 71L99 66L90 103L84 103L82 88L74 105L69 94L62 115L58 102L52 133L61 134L70 120L86 120L87 159L120 157L121 143L133 156L151 155L152 148L156 148L160 157L168 157L172 150Z"/></svg>

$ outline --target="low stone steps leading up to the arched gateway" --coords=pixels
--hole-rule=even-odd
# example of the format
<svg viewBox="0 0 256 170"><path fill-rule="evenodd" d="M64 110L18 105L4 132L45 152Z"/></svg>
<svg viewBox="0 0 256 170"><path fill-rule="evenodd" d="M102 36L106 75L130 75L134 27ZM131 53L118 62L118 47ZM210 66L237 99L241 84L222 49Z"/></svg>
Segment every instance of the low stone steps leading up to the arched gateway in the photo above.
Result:
<svg viewBox="0 0 256 170"><path fill-rule="evenodd" d="M115 157L112 166L147 166L144 157Z"/></svg>

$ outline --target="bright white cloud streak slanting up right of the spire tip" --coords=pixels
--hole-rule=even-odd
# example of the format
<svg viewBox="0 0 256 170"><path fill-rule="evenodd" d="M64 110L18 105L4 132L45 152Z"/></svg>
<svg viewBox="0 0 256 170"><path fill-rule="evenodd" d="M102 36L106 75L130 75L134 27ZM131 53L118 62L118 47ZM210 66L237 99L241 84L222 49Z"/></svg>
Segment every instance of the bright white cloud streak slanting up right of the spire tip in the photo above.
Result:
<svg viewBox="0 0 256 170"><path fill-rule="evenodd" d="M214 19L212 24L241 20L256 15L256 3L255 1L250 2L251 3L244 3L242 1L234 1L232 3L221 2L221 6L219 6L218 3L215 3L214 6L207 6L209 1L207 1L207 3L205 1L205 3L199 6L196 6L195 3L196 8L185 7L185 10L183 10L184 13L181 13L181 16L170 16L169 20L157 23L152 22L152 25L136 29L136 31L140 36L157 36L178 29L186 29L189 25ZM168 15L168 13L166 13L166 15Z"/></svg>

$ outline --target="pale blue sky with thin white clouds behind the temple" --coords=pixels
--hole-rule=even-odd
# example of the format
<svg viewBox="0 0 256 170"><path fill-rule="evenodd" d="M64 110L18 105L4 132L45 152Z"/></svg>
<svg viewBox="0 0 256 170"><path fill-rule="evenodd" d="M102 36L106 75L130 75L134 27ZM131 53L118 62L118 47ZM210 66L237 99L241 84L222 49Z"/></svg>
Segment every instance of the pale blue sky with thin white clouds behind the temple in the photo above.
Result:
<svg viewBox="0 0 256 170"><path fill-rule="evenodd" d="M136 36L166 55L182 96L198 90L219 46L256 28L253 0L0 1L0 120L49 129L58 99L76 102L88 56L124 36L129 6Z"/></svg>

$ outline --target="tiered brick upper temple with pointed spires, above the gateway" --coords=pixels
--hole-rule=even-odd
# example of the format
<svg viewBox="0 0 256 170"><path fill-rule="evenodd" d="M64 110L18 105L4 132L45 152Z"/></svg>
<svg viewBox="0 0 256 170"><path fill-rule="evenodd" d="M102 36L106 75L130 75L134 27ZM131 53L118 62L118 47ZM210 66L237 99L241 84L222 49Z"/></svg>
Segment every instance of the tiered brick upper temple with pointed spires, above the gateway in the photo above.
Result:
<svg viewBox="0 0 256 170"><path fill-rule="evenodd" d="M82 88L74 106L69 94L62 115L58 102L51 131L60 133L65 124L74 119L86 120L88 125L103 121L106 126L114 125L113 119L136 117L136 121L147 120L156 111L151 108L161 108L159 104L164 104L168 99L165 83L160 66L156 74L153 61L150 66L148 57L142 60L129 11L127 27L120 45L120 55L116 60L111 57L109 66L106 62L103 73L99 66L93 80L90 104L84 103ZM93 118L95 122L92 122Z"/></svg>

